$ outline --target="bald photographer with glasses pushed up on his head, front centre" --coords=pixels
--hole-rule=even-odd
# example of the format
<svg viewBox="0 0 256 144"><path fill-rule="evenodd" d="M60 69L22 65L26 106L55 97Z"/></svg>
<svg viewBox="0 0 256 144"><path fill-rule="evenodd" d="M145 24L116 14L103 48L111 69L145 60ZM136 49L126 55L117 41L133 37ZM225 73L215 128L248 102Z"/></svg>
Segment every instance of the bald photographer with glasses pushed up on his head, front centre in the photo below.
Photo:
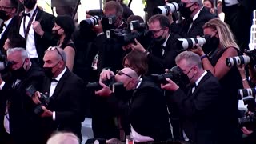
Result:
<svg viewBox="0 0 256 144"><path fill-rule="evenodd" d="M110 90L102 81L114 76L110 70L102 71L100 84L102 90L95 92L106 97L115 112L130 123L130 136L134 142L166 141L171 138L166 102L161 90L154 83L138 78L134 70L124 68L114 76L122 82L129 93L129 101L123 102L122 95ZM153 125L152 125L153 124ZM126 132L127 133L127 132ZM127 133L129 134L129 132Z"/></svg>

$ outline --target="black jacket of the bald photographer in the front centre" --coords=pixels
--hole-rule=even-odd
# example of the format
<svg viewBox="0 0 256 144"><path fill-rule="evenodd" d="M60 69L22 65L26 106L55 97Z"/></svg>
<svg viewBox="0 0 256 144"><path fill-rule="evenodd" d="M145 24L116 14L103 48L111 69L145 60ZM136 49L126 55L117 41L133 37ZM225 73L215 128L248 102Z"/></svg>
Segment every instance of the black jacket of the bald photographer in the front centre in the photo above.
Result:
<svg viewBox="0 0 256 144"><path fill-rule="evenodd" d="M141 86L134 90L128 103L114 94L108 102L118 114L128 118L138 134L149 136L154 141L172 138L165 98L153 82L142 80Z"/></svg>

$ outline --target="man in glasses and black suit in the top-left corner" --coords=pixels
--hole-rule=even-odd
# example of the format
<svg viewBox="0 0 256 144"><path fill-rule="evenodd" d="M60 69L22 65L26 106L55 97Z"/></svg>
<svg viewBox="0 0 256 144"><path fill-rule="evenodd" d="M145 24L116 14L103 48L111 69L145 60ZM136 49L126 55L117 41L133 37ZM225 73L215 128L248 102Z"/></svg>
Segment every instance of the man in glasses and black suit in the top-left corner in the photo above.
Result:
<svg viewBox="0 0 256 144"><path fill-rule="evenodd" d="M2 0L0 1L0 18L3 20L0 26L0 47L6 42L8 34L17 30L18 23L18 0ZM3 50L6 51L6 50Z"/></svg>

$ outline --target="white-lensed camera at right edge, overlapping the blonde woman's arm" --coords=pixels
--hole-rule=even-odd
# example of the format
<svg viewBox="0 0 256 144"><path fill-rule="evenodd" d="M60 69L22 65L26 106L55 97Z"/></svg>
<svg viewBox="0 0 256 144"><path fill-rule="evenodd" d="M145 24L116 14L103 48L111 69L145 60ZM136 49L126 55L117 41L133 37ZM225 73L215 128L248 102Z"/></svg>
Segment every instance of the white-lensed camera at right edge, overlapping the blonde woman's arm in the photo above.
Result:
<svg viewBox="0 0 256 144"><path fill-rule="evenodd" d="M226 58L226 66L241 66L251 63L252 66L256 65L256 49L245 50L246 55L240 55L236 57Z"/></svg>

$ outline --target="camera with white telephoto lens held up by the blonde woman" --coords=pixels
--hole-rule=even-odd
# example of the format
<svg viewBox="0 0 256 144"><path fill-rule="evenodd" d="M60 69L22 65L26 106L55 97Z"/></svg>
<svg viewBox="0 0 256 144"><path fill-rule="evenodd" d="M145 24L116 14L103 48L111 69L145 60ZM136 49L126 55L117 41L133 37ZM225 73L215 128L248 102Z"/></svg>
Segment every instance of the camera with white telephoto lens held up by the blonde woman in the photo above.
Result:
<svg viewBox="0 0 256 144"><path fill-rule="evenodd" d="M210 40L210 35L205 35L199 38L178 38L178 45L182 46L184 50L192 49L196 44L202 46Z"/></svg>

